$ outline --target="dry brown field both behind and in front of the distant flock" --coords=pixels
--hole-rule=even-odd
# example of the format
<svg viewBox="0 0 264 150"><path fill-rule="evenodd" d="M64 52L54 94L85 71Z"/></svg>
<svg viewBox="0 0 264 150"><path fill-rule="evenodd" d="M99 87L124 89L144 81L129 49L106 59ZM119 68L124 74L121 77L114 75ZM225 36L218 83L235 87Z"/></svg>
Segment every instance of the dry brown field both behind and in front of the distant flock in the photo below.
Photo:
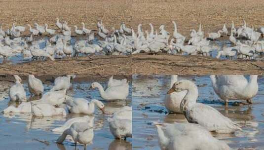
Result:
<svg viewBox="0 0 264 150"><path fill-rule="evenodd" d="M118 28L121 21L137 29L139 23L150 30L160 24L172 33L175 20L178 31L189 36L190 29L203 24L205 33L227 27L233 20L241 25L264 26L263 0L0 0L0 22L4 29L17 25L47 23L55 29L55 18L67 20L70 26L85 22L87 28L96 29L100 18L108 29ZM134 58L132 60L132 58ZM165 60L162 60L165 59ZM258 66L258 67L257 67ZM55 62L30 62L0 65L0 74L20 75L131 75L131 74L263 74L263 61L229 61L200 56L136 55L90 56L63 59Z"/></svg>

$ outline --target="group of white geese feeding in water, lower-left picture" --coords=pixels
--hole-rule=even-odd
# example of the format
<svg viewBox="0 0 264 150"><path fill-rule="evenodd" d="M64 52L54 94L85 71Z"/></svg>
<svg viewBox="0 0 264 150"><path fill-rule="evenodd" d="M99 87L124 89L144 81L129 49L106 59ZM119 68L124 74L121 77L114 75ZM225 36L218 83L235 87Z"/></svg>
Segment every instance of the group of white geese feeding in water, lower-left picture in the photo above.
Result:
<svg viewBox="0 0 264 150"><path fill-rule="evenodd" d="M66 117L67 113L86 114L82 117L75 117L67 120L61 127L52 131L61 134L57 143L62 144L69 135L73 141L83 144L91 144L93 140L94 128L94 112L100 109L103 113L112 114L105 110L105 105L96 99L87 101L84 98L72 98L66 95L66 91L71 87L71 78L75 75L67 75L57 77L54 86L50 91L44 92L44 86L40 79L34 75L28 77L28 87L32 95L39 95L41 98L35 101L28 101L22 79L18 75L14 75L16 83L9 89L10 101L18 101L20 104L15 107L13 105L7 107L2 112L21 113L33 116L58 116ZM118 80L110 77L108 87L104 90L103 86L98 82L93 82L91 88L98 88L101 97L107 101L125 100L128 96L129 84L126 79ZM124 106L113 113L113 117L108 118L110 131L115 139L124 139L132 137L132 108Z"/></svg>

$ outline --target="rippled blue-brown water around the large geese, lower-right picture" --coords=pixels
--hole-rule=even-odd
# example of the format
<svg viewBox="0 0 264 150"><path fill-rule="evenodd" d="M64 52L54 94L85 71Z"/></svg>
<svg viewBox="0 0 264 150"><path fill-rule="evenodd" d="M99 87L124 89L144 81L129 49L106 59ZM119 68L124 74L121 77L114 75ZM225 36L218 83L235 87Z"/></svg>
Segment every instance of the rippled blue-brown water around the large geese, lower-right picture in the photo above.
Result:
<svg viewBox="0 0 264 150"><path fill-rule="evenodd" d="M187 122L183 114L167 114L163 99L170 86L169 75L133 75L133 150L159 150L156 128L151 122ZM242 125L243 131L235 134L216 134L235 150L264 150L264 76L258 77L259 92L252 106L233 106L214 93L209 76L178 76L190 79L198 85L197 102L210 105ZM250 149L252 148L252 149Z"/></svg>

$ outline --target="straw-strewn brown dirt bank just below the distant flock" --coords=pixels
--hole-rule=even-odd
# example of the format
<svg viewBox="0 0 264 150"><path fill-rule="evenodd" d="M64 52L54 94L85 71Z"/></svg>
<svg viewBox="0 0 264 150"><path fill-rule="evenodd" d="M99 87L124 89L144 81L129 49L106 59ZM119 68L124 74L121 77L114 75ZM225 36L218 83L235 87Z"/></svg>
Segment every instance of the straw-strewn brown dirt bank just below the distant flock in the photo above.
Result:
<svg viewBox="0 0 264 150"><path fill-rule="evenodd" d="M0 75L263 75L263 61L230 61L202 56L89 56L0 65Z"/></svg>

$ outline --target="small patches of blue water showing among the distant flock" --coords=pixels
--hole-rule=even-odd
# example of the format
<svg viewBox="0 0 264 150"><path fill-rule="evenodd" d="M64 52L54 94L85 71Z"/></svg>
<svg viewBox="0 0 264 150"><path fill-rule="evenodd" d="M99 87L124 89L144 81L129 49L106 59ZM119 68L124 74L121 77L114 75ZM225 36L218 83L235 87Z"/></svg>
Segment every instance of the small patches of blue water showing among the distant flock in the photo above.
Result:
<svg viewBox="0 0 264 150"><path fill-rule="evenodd" d="M45 48L45 44L46 44L46 40L48 40L50 37L35 37L34 40L38 41L39 47L41 49ZM77 37L71 37L71 45L74 46L75 41L78 40L84 40L87 39L87 36L77 36ZM94 42L96 43L98 41L97 38L95 38ZM231 42L229 40L215 40L215 41L210 41L210 45L216 46L216 48L214 48L210 54L211 57L216 58L217 54L218 54L218 50L222 50L223 45L226 45L227 47L232 46ZM30 44L29 44L30 46ZM97 53L96 55L105 55L104 52L100 52ZM209 56L209 55L208 55ZM55 56L55 58L62 58L61 56ZM225 56L221 56L220 59L228 59ZM234 57L234 59L236 59L236 57ZM257 60L262 60L264 59L263 55L258 55L255 59ZM14 56L10 57L7 59L7 64L17 64L17 63L25 63L25 62L31 62L32 59L31 58L24 58L23 54L19 53L19 54L15 54ZM2 58L0 59L0 63L2 63Z"/></svg>

